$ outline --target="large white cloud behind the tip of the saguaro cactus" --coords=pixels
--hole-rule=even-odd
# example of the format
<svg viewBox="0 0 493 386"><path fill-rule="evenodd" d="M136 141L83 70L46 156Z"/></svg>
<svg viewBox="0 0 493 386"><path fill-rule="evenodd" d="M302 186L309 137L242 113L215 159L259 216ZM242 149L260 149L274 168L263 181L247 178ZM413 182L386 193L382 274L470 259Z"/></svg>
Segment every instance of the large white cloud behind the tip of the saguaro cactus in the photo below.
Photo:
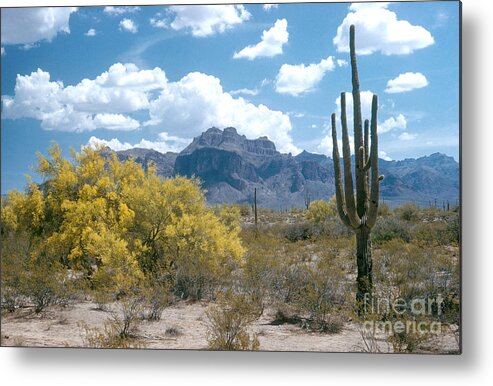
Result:
<svg viewBox="0 0 493 386"><path fill-rule="evenodd" d="M434 43L431 33L421 26L399 20L387 9L389 3L356 3L337 28L333 43L339 52L349 52L349 26L356 28L356 51L369 55L405 55Z"/></svg>

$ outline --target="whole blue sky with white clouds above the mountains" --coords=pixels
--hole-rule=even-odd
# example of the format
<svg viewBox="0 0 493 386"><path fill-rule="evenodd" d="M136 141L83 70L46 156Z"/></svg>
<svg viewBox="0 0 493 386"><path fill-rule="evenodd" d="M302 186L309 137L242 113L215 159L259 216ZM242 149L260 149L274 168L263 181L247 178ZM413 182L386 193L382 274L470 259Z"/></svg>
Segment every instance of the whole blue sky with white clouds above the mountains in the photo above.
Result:
<svg viewBox="0 0 493 386"><path fill-rule="evenodd" d="M235 126L330 155L349 24L365 116L379 95L381 157L458 159L458 2L3 8L1 21L2 193L52 141L67 155L179 151Z"/></svg>

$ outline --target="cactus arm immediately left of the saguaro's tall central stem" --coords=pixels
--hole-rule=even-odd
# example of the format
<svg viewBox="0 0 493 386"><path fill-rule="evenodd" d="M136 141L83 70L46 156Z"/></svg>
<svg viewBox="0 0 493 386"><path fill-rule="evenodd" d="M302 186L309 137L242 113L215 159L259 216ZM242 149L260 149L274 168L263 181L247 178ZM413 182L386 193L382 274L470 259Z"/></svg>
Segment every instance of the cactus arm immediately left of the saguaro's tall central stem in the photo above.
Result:
<svg viewBox="0 0 493 386"><path fill-rule="evenodd" d="M342 125L342 156L344 159L344 194L346 198L346 212L353 228L359 227L361 221L356 213L354 200L353 172L351 168L351 147L346 117L346 93L341 93L341 125Z"/></svg>

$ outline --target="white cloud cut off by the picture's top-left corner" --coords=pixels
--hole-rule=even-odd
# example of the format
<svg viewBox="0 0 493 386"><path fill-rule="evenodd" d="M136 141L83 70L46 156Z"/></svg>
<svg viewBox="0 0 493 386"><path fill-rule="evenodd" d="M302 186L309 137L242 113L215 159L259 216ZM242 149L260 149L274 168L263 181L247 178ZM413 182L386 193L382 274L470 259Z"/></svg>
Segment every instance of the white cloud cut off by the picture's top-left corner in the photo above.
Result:
<svg viewBox="0 0 493 386"><path fill-rule="evenodd" d="M2 44L32 45L70 33L69 19L77 8L2 8Z"/></svg>

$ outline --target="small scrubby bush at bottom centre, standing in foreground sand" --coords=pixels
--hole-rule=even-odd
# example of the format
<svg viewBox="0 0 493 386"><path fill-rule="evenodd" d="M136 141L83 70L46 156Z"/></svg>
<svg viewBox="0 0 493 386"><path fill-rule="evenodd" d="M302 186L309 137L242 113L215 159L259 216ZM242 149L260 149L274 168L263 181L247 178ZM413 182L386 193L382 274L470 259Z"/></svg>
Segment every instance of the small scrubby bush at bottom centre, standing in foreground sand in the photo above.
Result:
<svg viewBox="0 0 493 386"><path fill-rule="evenodd" d="M211 350L258 350L260 343L248 327L257 318L246 296L227 292L207 311L207 342Z"/></svg>

